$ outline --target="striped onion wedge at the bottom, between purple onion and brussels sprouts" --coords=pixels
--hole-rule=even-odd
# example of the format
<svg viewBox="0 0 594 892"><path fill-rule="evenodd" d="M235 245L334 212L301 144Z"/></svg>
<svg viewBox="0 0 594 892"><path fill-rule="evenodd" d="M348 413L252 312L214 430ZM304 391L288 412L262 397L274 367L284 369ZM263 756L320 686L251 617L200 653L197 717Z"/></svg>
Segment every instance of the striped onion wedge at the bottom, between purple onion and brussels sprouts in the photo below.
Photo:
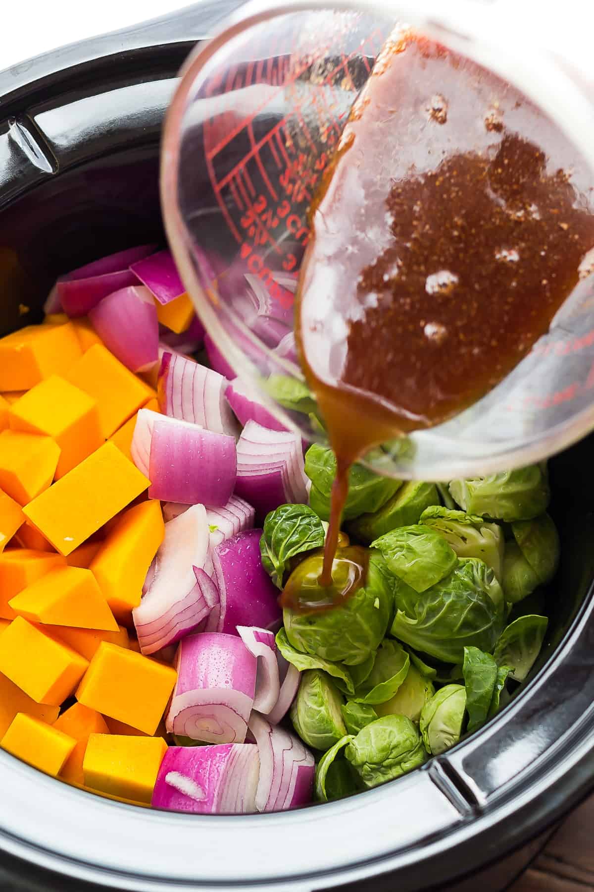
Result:
<svg viewBox="0 0 594 892"><path fill-rule="evenodd" d="M251 715L249 730L256 738L260 756L258 812L281 812L310 803L315 762L301 740L257 713Z"/></svg>

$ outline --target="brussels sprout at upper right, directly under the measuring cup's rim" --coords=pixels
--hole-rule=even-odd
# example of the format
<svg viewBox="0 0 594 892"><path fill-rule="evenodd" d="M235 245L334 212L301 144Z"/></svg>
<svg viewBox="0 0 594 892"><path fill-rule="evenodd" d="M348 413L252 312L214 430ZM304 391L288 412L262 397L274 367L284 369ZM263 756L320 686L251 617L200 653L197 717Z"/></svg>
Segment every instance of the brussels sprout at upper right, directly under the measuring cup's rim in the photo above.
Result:
<svg viewBox="0 0 594 892"><path fill-rule="evenodd" d="M549 504L546 470L541 465L521 467L474 480L452 480L450 492L468 514L493 520L530 520Z"/></svg>

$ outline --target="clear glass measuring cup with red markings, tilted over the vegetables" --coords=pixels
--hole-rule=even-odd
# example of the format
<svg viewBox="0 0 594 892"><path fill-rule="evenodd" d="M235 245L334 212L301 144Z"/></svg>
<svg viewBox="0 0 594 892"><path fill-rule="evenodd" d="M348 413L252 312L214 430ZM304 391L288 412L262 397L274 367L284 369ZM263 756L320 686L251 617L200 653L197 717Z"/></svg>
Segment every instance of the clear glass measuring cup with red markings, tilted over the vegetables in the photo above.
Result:
<svg viewBox="0 0 594 892"><path fill-rule="evenodd" d="M506 7L506 0L248 4L183 70L162 159L175 259L233 373L255 384L273 413L306 440L324 440L292 335L308 207L396 22L518 87L594 171L587 47L579 52L573 43L569 52L558 39L558 21L549 29L538 22L532 39L533 29L516 11L518 27L511 30ZM484 475L545 458L589 431L590 266L594 253L584 258L581 278L549 333L497 387L450 421L383 444L367 463L403 478Z"/></svg>

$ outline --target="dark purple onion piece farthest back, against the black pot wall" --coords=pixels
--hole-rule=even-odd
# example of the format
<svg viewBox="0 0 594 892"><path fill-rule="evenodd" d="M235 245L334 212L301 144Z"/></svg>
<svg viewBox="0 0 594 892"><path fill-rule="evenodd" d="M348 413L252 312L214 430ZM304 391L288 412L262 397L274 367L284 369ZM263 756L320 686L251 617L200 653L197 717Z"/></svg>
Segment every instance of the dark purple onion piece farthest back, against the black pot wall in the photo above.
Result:
<svg viewBox="0 0 594 892"><path fill-rule="evenodd" d="M73 269L56 282L62 309L69 316L85 316L99 301L118 288L137 285L138 280L129 266L155 250L154 244L118 251L84 267Z"/></svg>

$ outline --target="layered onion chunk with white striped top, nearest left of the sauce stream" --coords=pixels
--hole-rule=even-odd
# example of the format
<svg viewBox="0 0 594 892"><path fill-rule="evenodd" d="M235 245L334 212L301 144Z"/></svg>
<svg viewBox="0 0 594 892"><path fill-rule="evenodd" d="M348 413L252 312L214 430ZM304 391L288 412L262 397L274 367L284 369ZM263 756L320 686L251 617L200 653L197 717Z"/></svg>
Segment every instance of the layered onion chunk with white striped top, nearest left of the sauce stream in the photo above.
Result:
<svg viewBox="0 0 594 892"><path fill-rule="evenodd" d="M262 519L285 502L306 503L307 477L298 434L248 421L237 443L235 491Z"/></svg>

